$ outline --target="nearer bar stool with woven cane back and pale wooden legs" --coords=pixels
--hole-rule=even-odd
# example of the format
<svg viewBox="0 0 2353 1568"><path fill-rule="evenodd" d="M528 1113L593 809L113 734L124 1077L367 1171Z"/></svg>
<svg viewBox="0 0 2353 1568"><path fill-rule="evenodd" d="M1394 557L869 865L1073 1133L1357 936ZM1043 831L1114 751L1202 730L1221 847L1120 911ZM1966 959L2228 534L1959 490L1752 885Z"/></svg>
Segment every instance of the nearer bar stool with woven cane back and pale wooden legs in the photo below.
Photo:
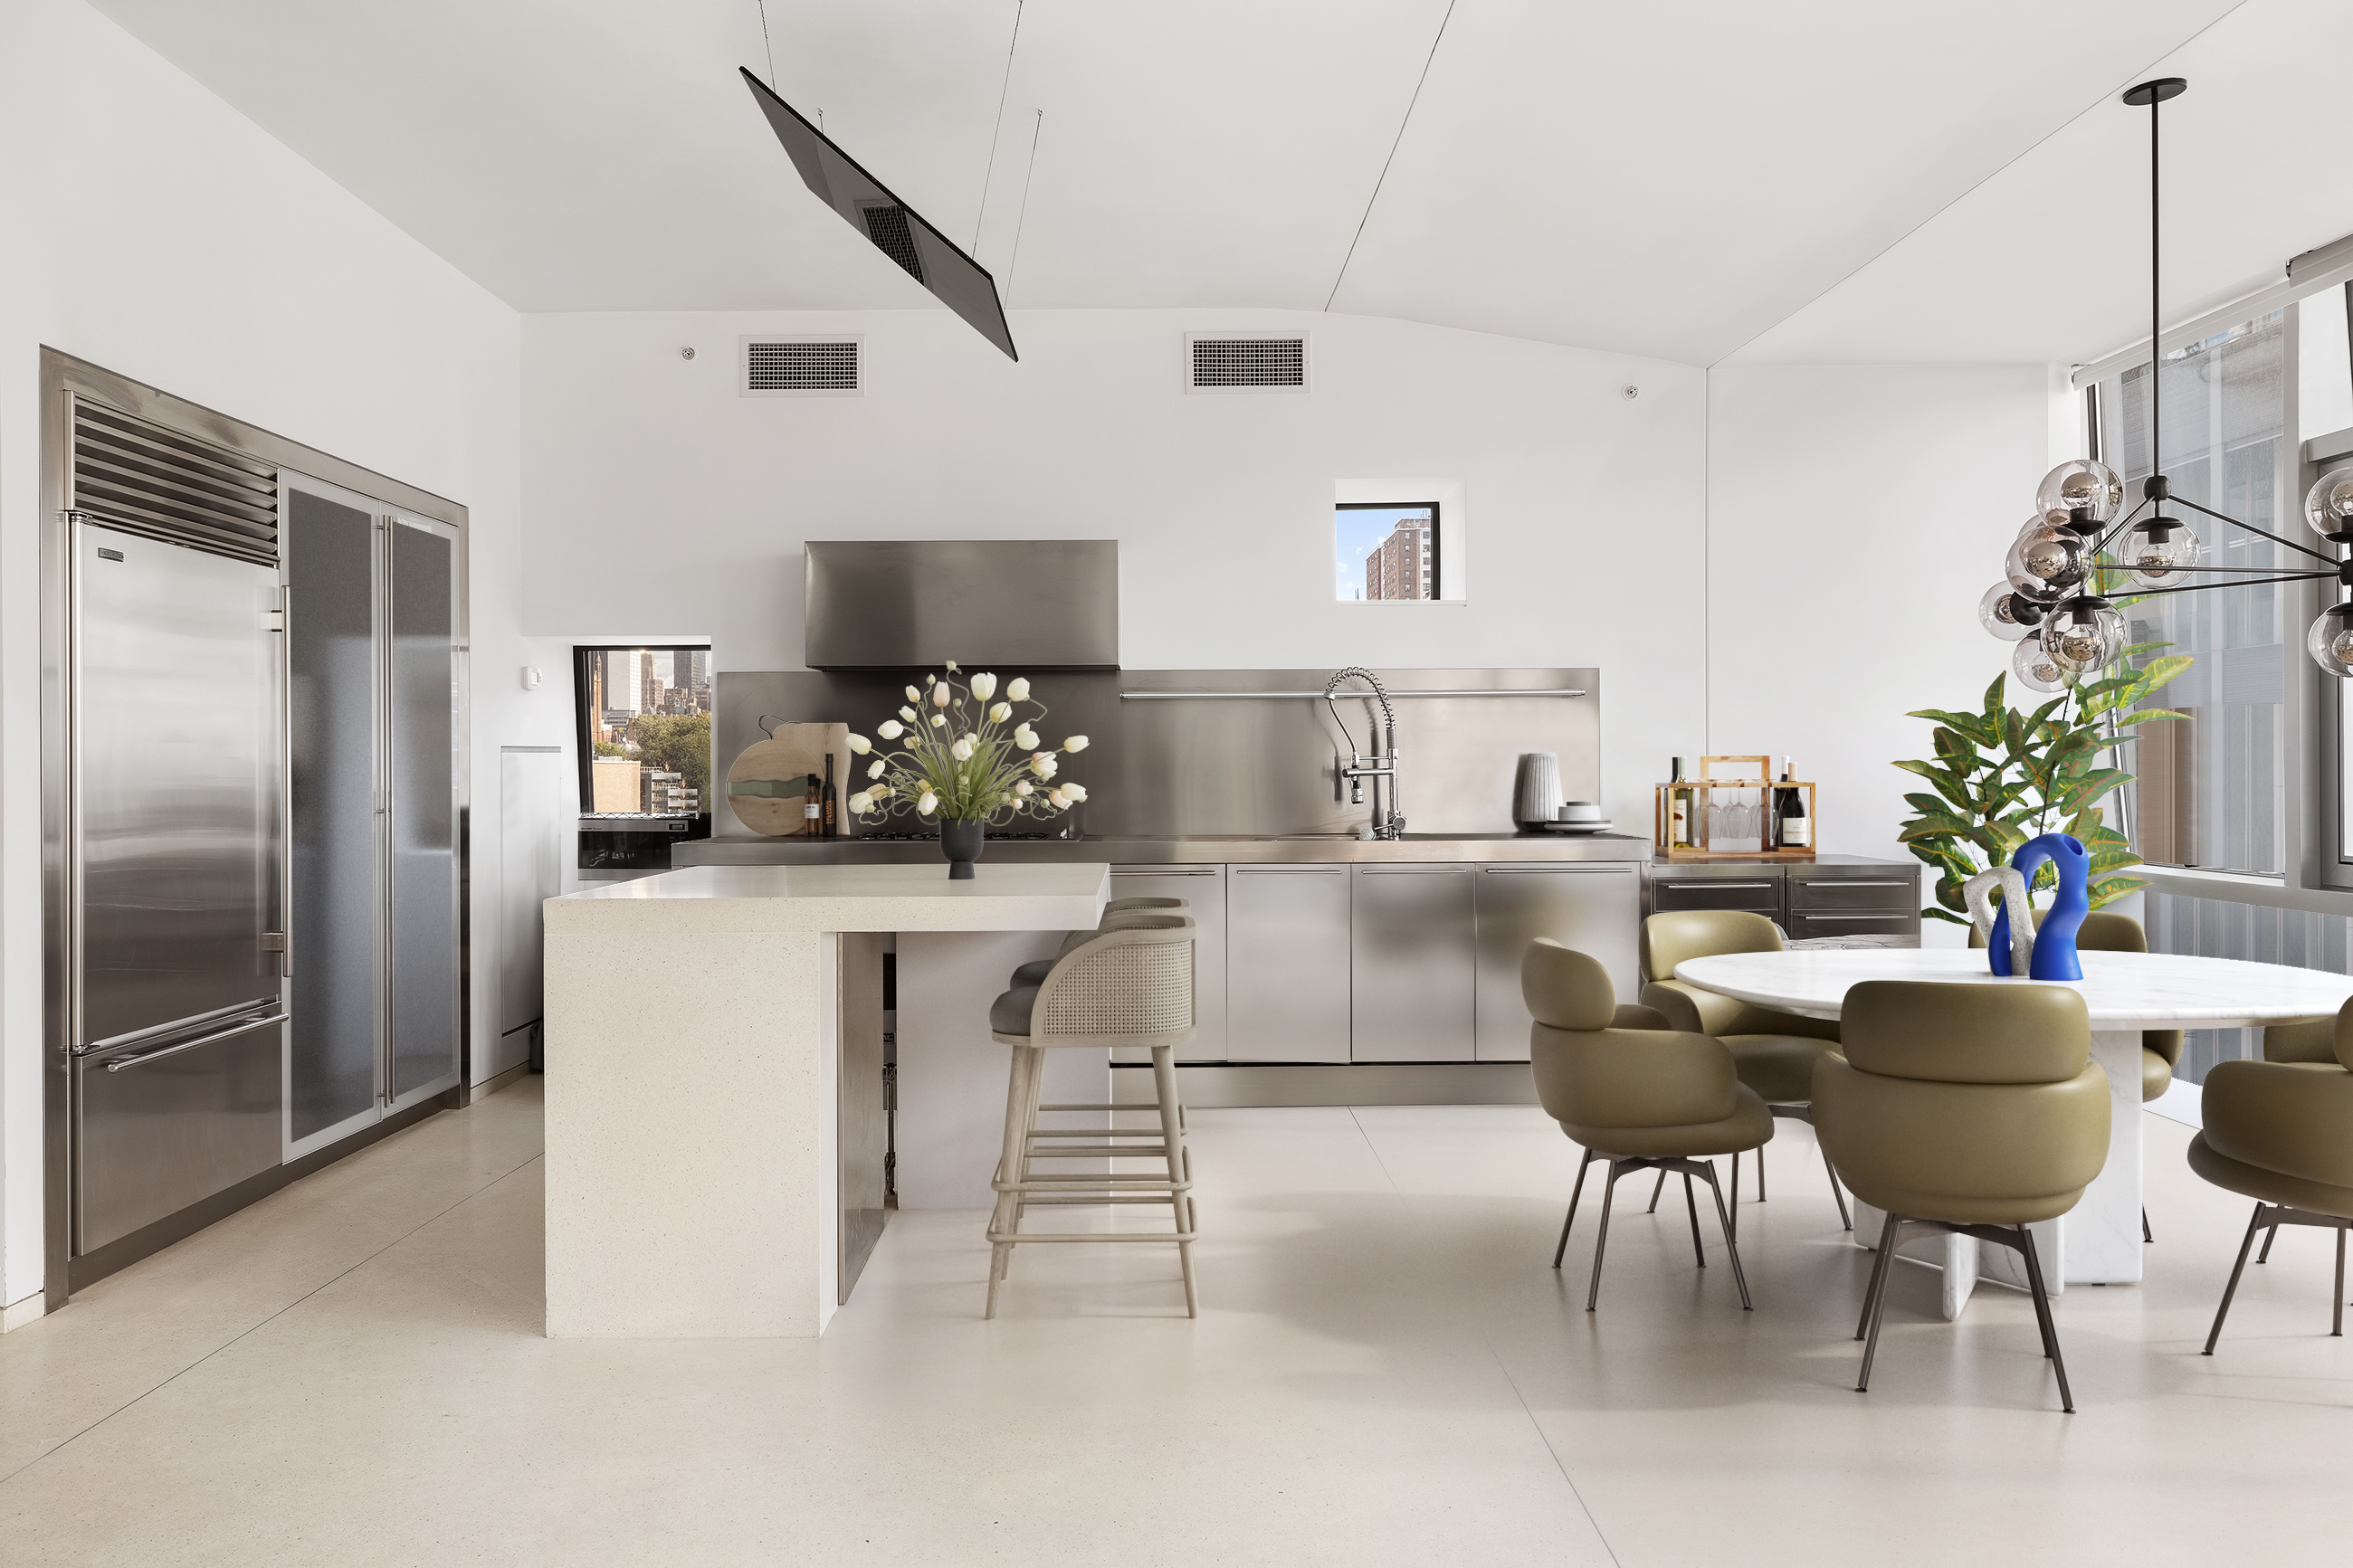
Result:
<svg viewBox="0 0 2353 1568"><path fill-rule="evenodd" d="M1193 1164L1184 1140L1184 1107L1176 1103L1174 1048L1193 1039L1193 922L1172 912L1132 912L1064 950L1038 985L1016 985L988 1009L991 1034L1012 1046L1005 1088L1005 1152L991 1187L998 1206L988 1218L988 1312L998 1314L998 1288L1012 1269L1021 1241L1174 1241L1184 1272L1186 1316L1200 1316L1193 1286ZM1042 1103L1045 1053L1068 1046L1146 1046L1153 1053L1160 1126L1155 1128L1040 1128L1047 1112L1115 1114L1118 1105ZM1136 1107L1127 1107L1136 1110ZM1136 1143L1146 1140L1146 1143ZM1054 1173L1040 1161L1056 1159L1158 1159L1160 1175ZM1038 1206L1134 1206L1167 1204L1167 1232L1026 1232L1021 1220Z"/></svg>

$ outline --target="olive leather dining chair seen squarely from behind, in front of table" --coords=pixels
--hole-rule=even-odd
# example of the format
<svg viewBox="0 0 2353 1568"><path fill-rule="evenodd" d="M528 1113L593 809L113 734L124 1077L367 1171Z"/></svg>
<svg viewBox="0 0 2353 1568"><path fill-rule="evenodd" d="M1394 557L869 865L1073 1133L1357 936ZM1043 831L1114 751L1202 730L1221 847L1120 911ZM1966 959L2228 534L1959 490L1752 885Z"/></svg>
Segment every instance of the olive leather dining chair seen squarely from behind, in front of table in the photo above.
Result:
<svg viewBox="0 0 2353 1568"><path fill-rule="evenodd" d="M2064 1215L2108 1161L2108 1074L2064 985L1864 980L1845 1056L1814 1067L1814 1126L1854 1197L1887 1213L1854 1338L1871 1387L1887 1279L1913 1234L1977 1237L2026 1258L2042 1354L2075 1408L2028 1225Z"/></svg>

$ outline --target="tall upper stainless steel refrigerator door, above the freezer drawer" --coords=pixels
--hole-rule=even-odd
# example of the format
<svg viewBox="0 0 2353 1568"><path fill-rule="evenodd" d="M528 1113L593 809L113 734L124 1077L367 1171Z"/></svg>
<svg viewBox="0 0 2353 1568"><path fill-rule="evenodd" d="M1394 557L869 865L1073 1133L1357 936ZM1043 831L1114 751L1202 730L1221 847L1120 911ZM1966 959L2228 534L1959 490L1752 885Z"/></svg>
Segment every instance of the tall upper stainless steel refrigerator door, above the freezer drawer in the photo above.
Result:
<svg viewBox="0 0 2353 1568"><path fill-rule="evenodd" d="M73 550L87 1046L278 997L278 574L94 524Z"/></svg>

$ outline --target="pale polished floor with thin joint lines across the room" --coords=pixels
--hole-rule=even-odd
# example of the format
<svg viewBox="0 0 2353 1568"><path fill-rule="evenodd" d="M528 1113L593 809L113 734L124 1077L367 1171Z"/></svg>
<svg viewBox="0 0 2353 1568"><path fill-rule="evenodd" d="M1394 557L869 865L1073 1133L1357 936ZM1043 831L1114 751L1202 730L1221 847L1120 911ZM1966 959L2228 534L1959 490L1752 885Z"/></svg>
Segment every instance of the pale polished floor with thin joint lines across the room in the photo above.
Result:
<svg viewBox="0 0 2353 1568"><path fill-rule="evenodd" d="M2141 1288L2075 1288L2059 1415L2028 1305L1904 1267L1871 1394L1802 1126L1708 1222L1595 1194L1534 1110L1195 1114L1205 1312L1162 1248L901 1213L819 1342L551 1342L536 1081L435 1117L0 1338L0 1561L2315 1563L2344 1559L2353 1342L2329 1237L2148 1121ZM1753 1199L1753 1180L1748 1182ZM1085 1255L1080 1255L1085 1253Z"/></svg>

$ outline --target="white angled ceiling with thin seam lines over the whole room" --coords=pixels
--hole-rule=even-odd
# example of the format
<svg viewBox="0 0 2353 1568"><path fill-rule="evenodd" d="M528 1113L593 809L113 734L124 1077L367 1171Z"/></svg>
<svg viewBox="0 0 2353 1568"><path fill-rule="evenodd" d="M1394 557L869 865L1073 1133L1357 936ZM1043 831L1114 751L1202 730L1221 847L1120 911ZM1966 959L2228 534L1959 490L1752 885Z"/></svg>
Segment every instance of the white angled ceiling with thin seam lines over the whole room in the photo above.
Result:
<svg viewBox="0 0 2353 1568"><path fill-rule="evenodd" d="M936 308L793 176L734 75L767 75L755 0L94 2L520 310ZM1035 0L1007 87L1014 14L767 7L779 92L960 244L995 132L979 259L1016 310L2080 360L2144 313L2115 92L2160 66L2193 80L2172 299L2353 230L2344 0Z"/></svg>

